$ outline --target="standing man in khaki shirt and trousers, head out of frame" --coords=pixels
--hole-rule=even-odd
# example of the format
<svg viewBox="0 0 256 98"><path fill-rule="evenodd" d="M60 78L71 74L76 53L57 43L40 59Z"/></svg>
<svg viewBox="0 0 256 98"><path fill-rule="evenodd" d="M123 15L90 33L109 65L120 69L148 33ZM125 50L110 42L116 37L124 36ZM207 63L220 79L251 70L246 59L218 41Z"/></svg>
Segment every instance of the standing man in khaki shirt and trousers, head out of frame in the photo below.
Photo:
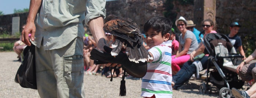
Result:
<svg viewBox="0 0 256 98"><path fill-rule="evenodd" d="M30 0L22 41L36 46L37 89L42 98L85 97L82 21L97 43L104 38L105 18L105 0L86 1Z"/></svg>

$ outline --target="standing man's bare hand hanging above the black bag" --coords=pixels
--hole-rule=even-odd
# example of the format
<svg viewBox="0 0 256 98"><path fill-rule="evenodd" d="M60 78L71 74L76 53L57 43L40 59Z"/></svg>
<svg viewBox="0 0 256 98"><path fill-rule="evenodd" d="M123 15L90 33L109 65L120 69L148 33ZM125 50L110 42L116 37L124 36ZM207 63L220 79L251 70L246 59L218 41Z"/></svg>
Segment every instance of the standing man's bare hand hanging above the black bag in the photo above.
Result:
<svg viewBox="0 0 256 98"><path fill-rule="evenodd" d="M31 41L34 41L36 32L36 26L34 23L27 23L24 30L22 31L22 42L26 45L31 46L31 42L29 41L29 33L31 33Z"/></svg>

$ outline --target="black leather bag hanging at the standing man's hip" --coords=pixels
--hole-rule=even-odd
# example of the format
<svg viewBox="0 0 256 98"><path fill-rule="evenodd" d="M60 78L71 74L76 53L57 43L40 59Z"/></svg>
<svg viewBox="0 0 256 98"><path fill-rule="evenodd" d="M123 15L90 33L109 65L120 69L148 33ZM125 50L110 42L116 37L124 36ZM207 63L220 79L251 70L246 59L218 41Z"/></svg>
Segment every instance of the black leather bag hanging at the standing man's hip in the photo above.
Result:
<svg viewBox="0 0 256 98"><path fill-rule="evenodd" d="M24 59L19 67L15 82L21 87L37 89L36 83L36 67L35 67L35 46L26 46L23 50Z"/></svg>

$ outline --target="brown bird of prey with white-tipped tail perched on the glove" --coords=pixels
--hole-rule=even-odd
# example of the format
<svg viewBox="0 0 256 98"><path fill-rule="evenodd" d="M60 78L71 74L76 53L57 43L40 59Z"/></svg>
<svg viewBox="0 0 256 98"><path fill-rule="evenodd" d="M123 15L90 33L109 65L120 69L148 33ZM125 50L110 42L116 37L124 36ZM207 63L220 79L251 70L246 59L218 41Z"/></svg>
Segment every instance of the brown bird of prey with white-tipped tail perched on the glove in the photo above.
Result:
<svg viewBox="0 0 256 98"><path fill-rule="evenodd" d="M108 15L105 19L104 30L114 35L112 43L112 56L117 56L122 46L126 46L126 54L130 61L135 63L152 59L148 51L142 45L141 32L138 25L130 18Z"/></svg>

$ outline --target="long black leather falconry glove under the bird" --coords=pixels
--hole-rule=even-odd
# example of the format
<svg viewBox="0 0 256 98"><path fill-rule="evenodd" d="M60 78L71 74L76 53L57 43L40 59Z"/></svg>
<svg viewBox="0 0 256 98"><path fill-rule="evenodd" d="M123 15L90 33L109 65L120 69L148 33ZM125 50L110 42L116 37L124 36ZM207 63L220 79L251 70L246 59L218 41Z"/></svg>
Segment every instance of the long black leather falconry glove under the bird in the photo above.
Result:
<svg viewBox="0 0 256 98"><path fill-rule="evenodd" d="M126 69L126 72L129 73L131 76L134 76L136 78L142 78L146 74L147 70L147 62L139 62L135 63L133 61L130 61L128 59L128 56L120 52L117 56L111 56L110 52L112 48L109 48L108 46L104 46L104 50L106 52L103 52L101 50L93 49L90 54L90 59L96 60L98 64L104 64L104 63L116 63L121 64L123 69Z"/></svg>

